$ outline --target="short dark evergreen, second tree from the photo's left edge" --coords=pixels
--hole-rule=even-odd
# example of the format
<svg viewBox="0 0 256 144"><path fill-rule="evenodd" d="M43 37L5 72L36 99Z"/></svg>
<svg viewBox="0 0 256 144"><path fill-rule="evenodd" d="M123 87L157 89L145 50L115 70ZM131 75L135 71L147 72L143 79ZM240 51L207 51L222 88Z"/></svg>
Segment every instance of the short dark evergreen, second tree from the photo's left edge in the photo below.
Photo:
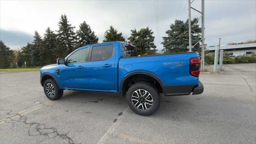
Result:
<svg viewBox="0 0 256 144"><path fill-rule="evenodd" d="M24 65L24 62L26 62L26 66L32 66L31 62L31 50L32 50L33 44L28 43L26 46L22 47L21 50L18 51L18 66Z"/></svg>

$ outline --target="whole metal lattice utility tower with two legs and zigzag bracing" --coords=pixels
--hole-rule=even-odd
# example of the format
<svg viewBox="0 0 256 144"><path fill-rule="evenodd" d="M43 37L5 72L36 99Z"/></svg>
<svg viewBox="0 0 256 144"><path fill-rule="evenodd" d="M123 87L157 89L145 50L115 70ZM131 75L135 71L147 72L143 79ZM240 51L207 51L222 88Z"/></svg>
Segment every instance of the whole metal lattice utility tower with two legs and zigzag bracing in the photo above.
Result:
<svg viewBox="0 0 256 144"><path fill-rule="evenodd" d="M194 0L192 0L192 2L194 2ZM201 53L201 69L204 70L204 49L206 44L204 44L204 0L201 0L202 2L202 10L201 12L199 10L196 10L195 8L191 7L192 2L190 2L190 0L188 0L188 31L189 31L189 51L192 51L192 48L194 48L194 46L196 46L196 44L198 44L198 42L202 42L201 44L201 48L202 48L202 53ZM198 18L198 20L196 22L194 22L194 24L191 25L191 9L195 10L196 12L199 12L201 14L200 18L202 18L202 34L198 34L197 32L195 32L194 30L192 30L192 26L194 26L194 24L196 24L196 22L198 22L198 20L200 18ZM201 36L202 38L196 43L194 44L194 46L192 46L191 44L191 31L193 31L195 34L198 34L199 36Z"/></svg>

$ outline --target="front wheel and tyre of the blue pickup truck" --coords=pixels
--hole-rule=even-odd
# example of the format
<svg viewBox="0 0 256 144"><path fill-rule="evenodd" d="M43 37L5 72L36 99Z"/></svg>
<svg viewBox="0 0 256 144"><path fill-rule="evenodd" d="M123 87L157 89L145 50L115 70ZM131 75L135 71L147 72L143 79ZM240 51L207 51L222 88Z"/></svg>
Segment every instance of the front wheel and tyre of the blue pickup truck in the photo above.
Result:
<svg viewBox="0 0 256 144"><path fill-rule="evenodd" d="M63 95L63 90L59 89L56 82L48 79L44 82L44 94L50 100L58 100Z"/></svg>

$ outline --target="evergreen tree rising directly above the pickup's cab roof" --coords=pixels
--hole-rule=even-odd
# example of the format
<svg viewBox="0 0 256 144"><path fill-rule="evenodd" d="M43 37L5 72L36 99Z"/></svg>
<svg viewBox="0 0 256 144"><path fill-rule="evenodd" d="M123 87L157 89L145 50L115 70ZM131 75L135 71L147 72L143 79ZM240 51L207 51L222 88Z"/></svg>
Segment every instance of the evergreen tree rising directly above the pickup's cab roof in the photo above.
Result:
<svg viewBox="0 0 256 144"><path fill-rule="evenodd" d="M104 40L103 42L113 42L113 41L120 41L124 42L125 38L122 36L122 32L118 33L113 26L110 26L108 30L104 33Z"/></svg>

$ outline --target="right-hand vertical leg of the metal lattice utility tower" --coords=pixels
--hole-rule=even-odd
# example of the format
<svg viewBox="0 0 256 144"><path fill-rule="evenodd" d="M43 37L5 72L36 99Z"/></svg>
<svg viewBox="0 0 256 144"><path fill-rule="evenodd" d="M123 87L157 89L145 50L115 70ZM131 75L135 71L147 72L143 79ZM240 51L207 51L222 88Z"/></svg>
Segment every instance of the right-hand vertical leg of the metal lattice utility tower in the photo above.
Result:
<svg viewBox="0 0 256 144"><path fill-rule="evenodd" d="M201 52L201 56L202 56L202 70L204 70L204 0L202 0L202 52Z"/></svg>

